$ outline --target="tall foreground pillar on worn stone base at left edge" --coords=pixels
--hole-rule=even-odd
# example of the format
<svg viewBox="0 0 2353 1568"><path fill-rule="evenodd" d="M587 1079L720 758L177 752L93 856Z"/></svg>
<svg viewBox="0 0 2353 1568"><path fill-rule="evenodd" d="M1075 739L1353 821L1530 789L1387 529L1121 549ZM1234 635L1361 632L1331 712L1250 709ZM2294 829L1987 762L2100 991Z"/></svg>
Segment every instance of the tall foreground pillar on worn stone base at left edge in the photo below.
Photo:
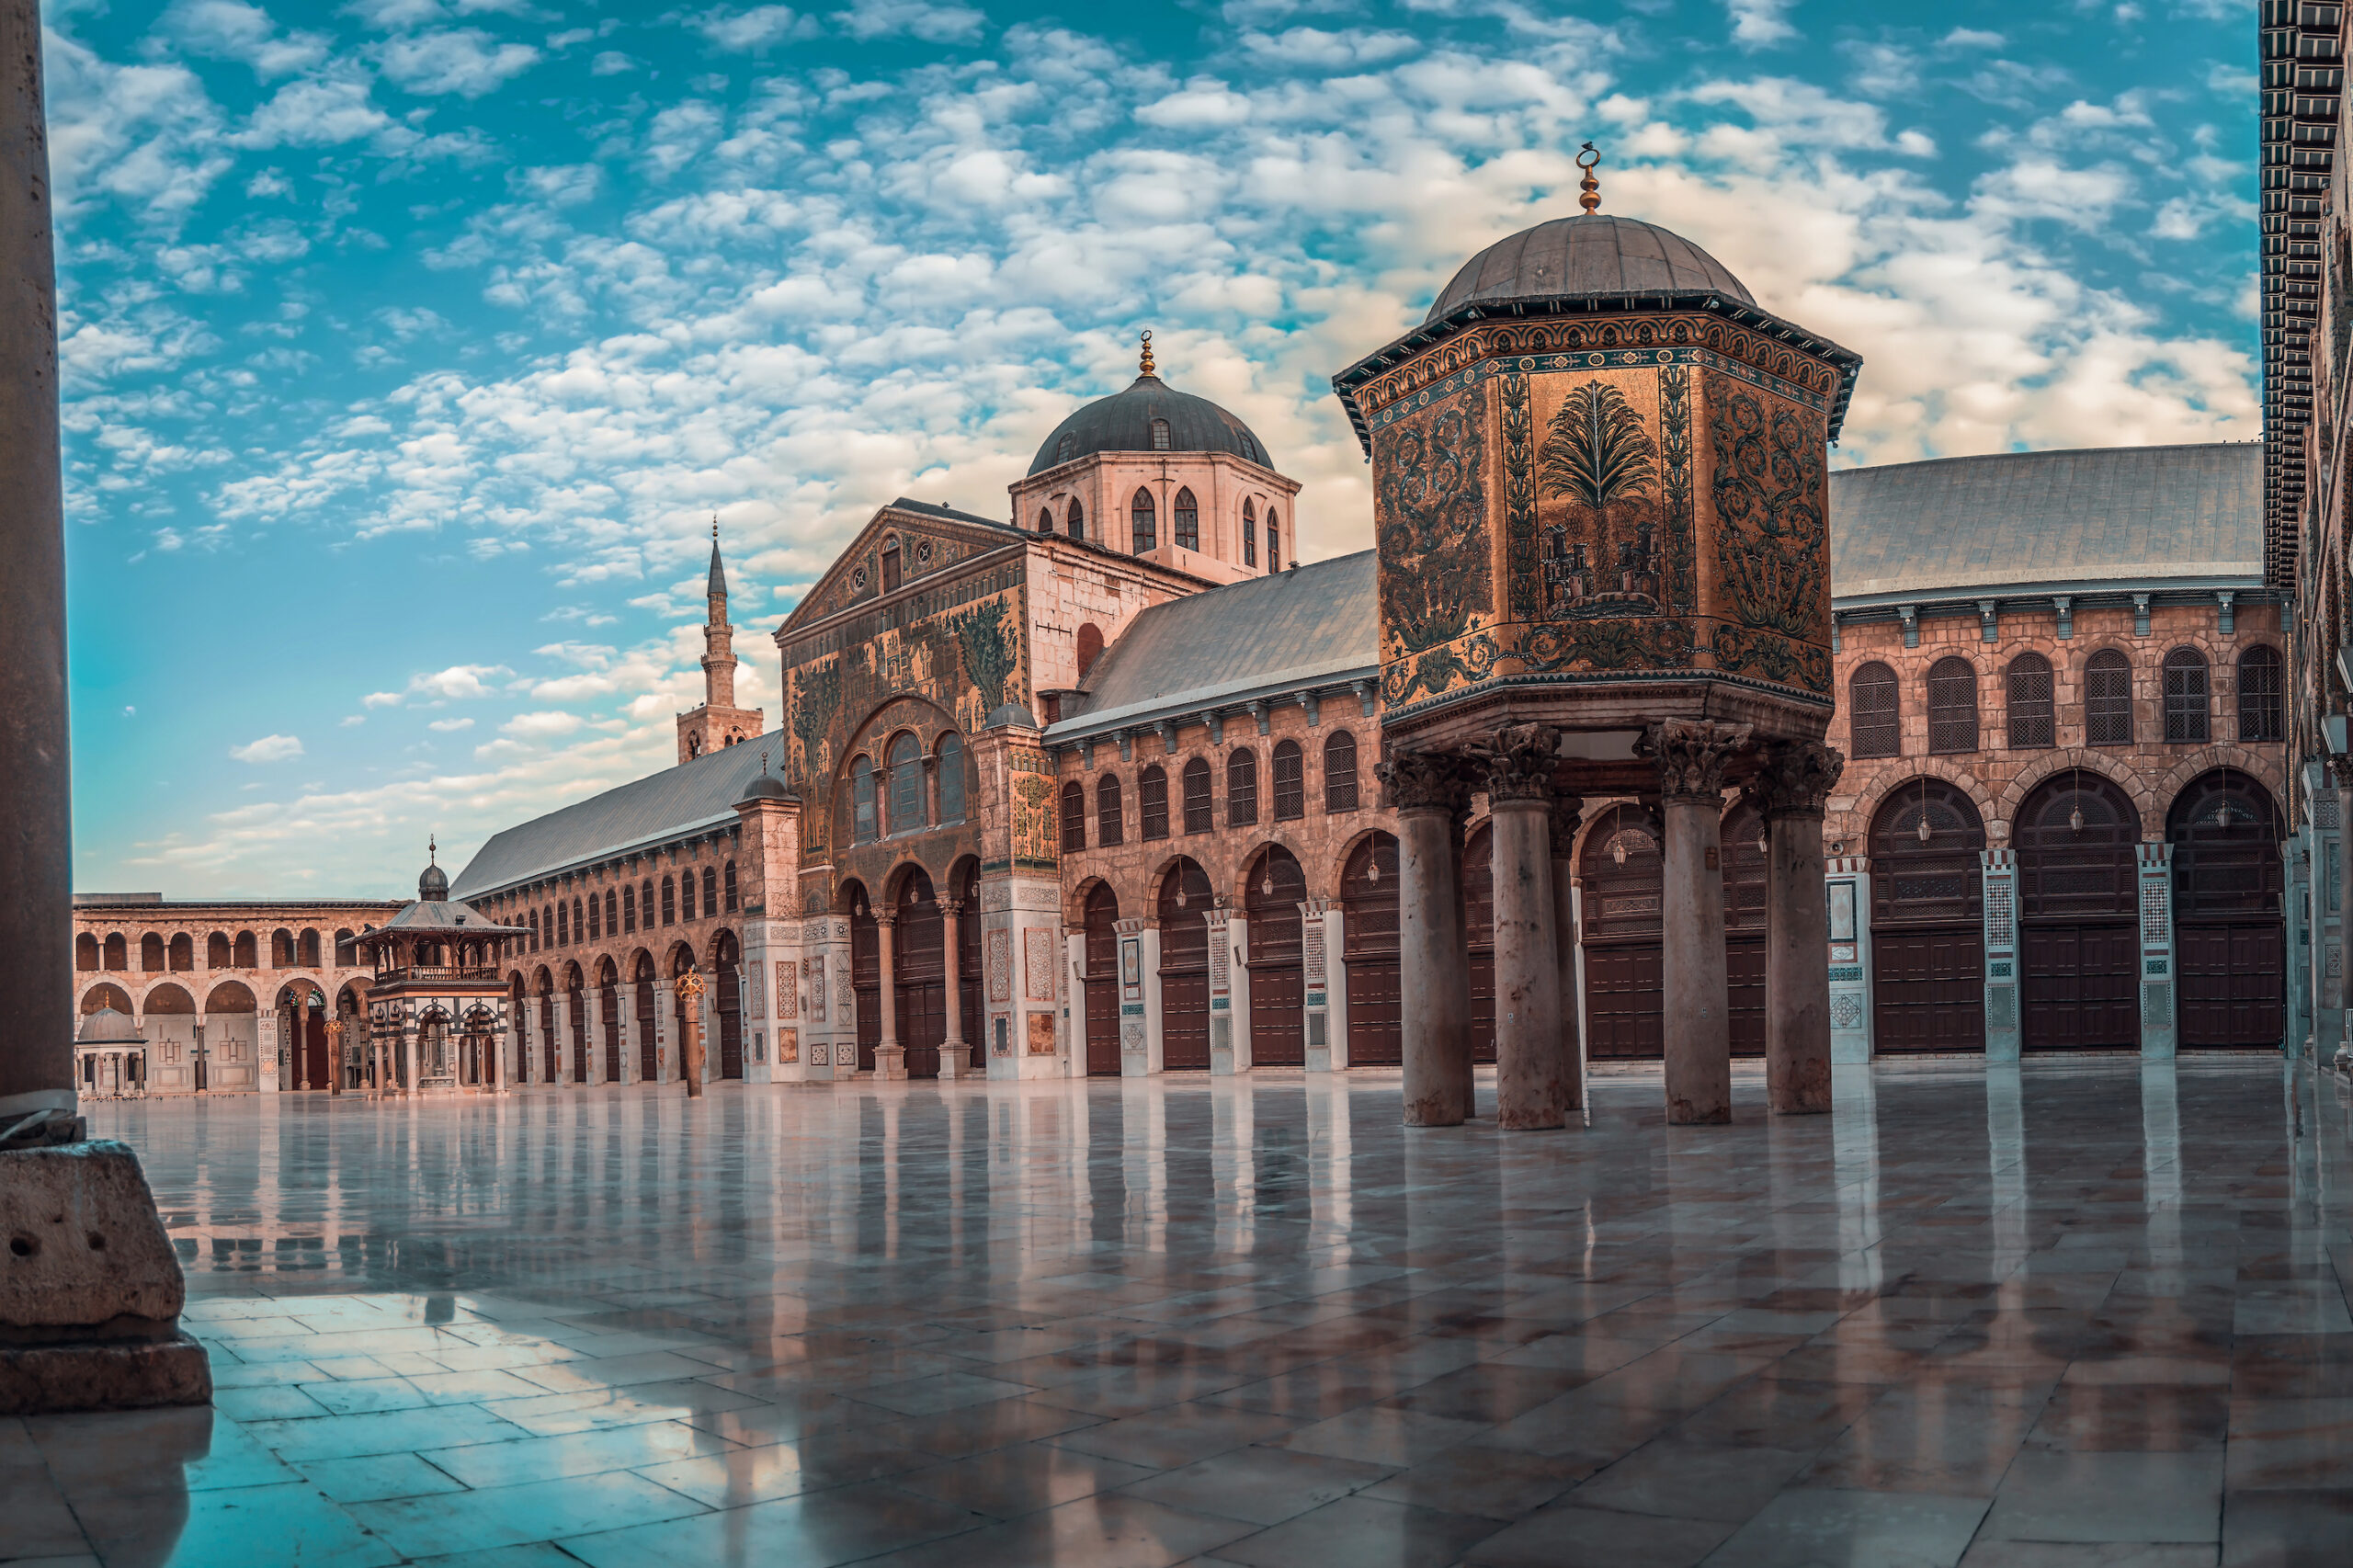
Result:
<svg viewBox="0 0 2353 1568"><path fill-rule="evenodd" d="M188 1283L129 1144L73 1092L66 537L40 7L0 0L0 1415L202 1406ZM5 1526L0 1526L5 1535Z"/></svg>

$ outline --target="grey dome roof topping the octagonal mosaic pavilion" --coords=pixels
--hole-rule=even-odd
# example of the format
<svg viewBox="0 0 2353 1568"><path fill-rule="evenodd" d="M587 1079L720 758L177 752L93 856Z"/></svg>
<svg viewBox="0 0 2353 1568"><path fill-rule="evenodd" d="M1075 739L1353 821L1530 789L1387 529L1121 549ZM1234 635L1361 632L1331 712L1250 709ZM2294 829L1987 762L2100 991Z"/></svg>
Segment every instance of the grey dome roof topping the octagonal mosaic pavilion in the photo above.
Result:
<svg viewBox="0 0 2353 1568"><path fill-rule="evenodd" d="M1725 264L1680 233L1640 219L1588 212L1497 240L1464 261L1426 323L1478 306L1581 299L1588 294L1729 294L1755 304Z"/></svg>

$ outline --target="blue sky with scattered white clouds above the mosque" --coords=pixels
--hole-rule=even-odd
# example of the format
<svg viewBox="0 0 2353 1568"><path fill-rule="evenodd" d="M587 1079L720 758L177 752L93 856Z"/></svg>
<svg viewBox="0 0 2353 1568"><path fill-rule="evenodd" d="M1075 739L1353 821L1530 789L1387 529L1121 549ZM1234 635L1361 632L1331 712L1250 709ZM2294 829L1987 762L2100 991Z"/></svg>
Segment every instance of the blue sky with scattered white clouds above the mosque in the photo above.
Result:
<svg viewBox="0 0 2353 1568"><path fill-rule="evenodd" d="M1605 210L1866 358L1840 461L2249 440L2254 12L52 0L75 883L393 895L671 760L894 494L1153 327L1369 542L1327 377Z"/></svg>

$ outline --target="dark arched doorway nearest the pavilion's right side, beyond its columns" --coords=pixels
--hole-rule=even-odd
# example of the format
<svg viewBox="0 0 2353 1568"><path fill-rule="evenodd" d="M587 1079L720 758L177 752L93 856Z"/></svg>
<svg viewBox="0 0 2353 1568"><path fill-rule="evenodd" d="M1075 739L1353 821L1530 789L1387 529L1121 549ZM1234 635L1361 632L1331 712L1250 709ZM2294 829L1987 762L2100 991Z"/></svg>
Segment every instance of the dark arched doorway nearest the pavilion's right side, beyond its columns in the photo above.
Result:
<svg viewBox="0 0 2353 1568"><path fill-rule="evenodd" d="M1871 819L1875 1050L1986 1048L1984 848L1977 805L1944 779L1899 784Z"/></svg>

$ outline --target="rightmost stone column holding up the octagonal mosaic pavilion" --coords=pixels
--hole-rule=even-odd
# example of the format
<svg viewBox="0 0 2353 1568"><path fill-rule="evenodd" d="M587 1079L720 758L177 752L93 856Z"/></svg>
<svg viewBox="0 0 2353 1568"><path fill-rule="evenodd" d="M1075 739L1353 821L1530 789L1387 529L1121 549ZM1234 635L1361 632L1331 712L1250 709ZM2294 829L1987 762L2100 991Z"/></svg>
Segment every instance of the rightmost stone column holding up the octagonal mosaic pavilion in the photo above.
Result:
<svg viewBox="0 0 2353 1568"><path fill-rule="evenodd" d="M1779 742L1751 791L1765 812L1765 1104L1777 1116L1831 1109L1831 890L1821 810L1847 758Z"/></svg>

